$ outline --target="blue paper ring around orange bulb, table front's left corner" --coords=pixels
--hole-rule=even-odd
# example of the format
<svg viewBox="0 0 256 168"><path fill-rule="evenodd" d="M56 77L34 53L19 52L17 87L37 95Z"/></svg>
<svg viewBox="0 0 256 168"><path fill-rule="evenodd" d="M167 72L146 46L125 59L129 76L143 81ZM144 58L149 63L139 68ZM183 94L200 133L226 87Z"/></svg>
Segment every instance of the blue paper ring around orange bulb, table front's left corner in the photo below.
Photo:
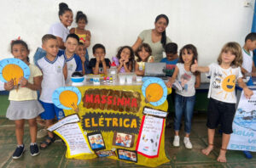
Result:
<svg viewBox="0 0 256 168"><path fill-rule="evenodd" d="M78 98L79 98L77 105L80 104L82 95L81 95L81 92L79 91L79 89L77 87L59 87L52 94L52 102L55 104L55 106L57 106L60 109L72 109L72 108L69 108L69 107L66 107L66 106L62 105L61 102L60 102L61 92L64 92L64 91L75 92L78 95Z"/></svg>

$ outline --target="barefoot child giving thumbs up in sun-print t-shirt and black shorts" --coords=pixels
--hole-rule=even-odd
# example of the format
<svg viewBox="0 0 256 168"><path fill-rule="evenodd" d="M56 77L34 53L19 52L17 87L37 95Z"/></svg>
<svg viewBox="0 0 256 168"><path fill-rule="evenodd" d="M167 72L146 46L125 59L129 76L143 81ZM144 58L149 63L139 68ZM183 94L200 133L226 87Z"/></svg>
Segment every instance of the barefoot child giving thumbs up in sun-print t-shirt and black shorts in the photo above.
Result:
<svg viewBox="0 0 256 168"><path fill-rule="evenodd" d="M224 45L218 56L218 64L210 64L206 67L198 66L197 62L192 65L191 71L208 72L211 76L208 92L209 105L207 116L208 146L202 150L203 154L210 154L214 147L214 133L218 123L221 124L222 147L220 148L218 161L226 162L226 150L232 133L232 122L236 113L236 81L244 91L246 98L250 98L253 92L242 81L241 47L237 42L228 42Z"/></svg>

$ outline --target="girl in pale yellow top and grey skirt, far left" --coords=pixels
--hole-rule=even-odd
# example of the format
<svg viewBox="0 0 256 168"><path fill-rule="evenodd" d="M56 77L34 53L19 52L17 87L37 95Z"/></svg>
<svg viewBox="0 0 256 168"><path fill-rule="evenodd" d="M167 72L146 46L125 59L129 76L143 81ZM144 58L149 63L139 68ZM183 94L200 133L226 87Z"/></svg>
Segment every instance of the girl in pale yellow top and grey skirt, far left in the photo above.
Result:
<svg viewBox="0 0 256 168"><path fill-rule="evenodd" d="M17 140L17 148L13 154L13 159L19 159L25 151L23 144L24 124L28 120L31 143L30 153L32 156L39 154L37 140L37 121L36 118L44 109L38 102L37 90L41 87L42 73L37 66L29 63L29 49L26 42L15 40L11 42L11 53L15 59L20 59L25 62L30 69L29 79L22 77L19 81L19 89L14 88L14 81L5 83L5 89L9 90L9 108L7 109L6 117L9 120L15 120L15 134Z"/></svg>

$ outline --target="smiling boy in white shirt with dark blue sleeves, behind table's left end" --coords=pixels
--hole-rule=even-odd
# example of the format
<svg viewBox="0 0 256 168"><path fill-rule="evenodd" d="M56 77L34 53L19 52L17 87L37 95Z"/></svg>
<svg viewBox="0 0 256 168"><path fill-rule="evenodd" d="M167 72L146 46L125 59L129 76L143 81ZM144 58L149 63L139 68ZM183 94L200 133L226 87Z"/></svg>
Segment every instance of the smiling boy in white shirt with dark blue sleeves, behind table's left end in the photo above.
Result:
<svg viewBox="0 0 256 168"><path fill-rule="evenodd" d="M66 42L64 43L65 50L60 50L58 56L63 55L67 64L67 80L66 85L71 85L71 76L74 71L83 71L82 61L80 57L75 54L76 49L79 46L79 36L76 34L69 34L67 36Z"/></svg>

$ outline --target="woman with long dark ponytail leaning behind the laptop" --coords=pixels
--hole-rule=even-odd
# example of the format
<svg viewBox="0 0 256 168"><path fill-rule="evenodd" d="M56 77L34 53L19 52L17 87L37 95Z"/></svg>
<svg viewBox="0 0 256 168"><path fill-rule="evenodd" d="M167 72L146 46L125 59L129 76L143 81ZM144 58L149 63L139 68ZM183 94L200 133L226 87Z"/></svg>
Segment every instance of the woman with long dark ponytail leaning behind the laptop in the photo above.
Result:
<svg viewBox="0 0 256 168"><path fill-rule="evenodd" d="M166 36L166 27L168 24L169 19L166 14L158 15L154 20L154 29L142 31L137 37L137 41L133 44L132 49L136 51L143 42L148 43L150 48L152 48L154 62L160 62L163 59L163 51L166 43L172 42Z"/></svg>

